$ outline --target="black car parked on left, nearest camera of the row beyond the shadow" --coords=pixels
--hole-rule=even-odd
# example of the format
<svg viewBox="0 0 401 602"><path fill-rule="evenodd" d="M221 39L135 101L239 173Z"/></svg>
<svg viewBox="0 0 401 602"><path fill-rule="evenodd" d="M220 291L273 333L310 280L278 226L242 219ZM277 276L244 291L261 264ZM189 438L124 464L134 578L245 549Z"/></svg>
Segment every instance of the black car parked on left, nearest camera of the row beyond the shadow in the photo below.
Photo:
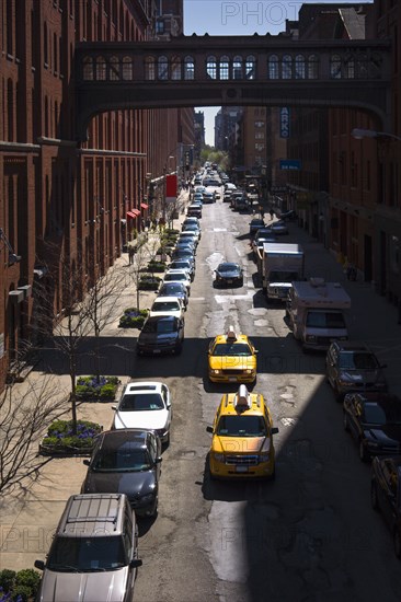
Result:
<svg viewBox="0 0 401 602"><path fill-rule="evenodd" d="M159 293L160 294L160 293ZM137 355L181 354L184 321L172 315L148 317L137 340Z"/></svg>

